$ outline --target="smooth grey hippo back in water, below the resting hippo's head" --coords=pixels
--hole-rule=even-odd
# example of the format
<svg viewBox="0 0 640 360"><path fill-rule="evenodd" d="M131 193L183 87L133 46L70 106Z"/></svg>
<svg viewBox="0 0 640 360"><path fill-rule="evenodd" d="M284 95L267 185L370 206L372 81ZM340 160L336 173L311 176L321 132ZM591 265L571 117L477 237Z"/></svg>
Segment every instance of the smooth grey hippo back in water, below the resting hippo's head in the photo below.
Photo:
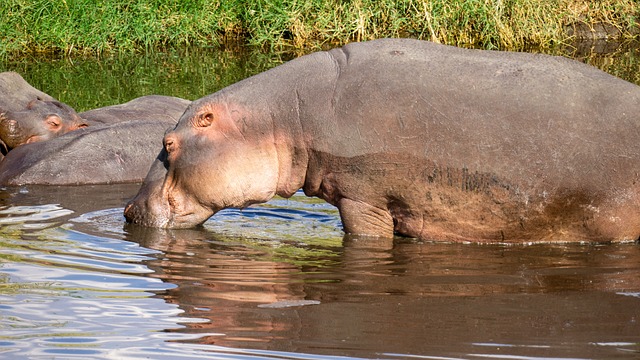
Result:
<svg viewBox="0 0 640 360"><path fill-rule="evenodd" d="M0 185L140 182L172 125L155 120L96 125L17 147L0 162Z"/></svg>

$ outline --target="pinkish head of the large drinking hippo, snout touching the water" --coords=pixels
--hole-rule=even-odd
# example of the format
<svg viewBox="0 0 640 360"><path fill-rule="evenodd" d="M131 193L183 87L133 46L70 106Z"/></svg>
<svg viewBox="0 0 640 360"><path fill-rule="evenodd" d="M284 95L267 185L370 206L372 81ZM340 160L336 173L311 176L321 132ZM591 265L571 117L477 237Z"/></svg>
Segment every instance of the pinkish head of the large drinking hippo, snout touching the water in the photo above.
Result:
<svg viewBox="0 0 640 360"><path fill-rule="evenodd" d="M165 134L164 150L125 217L144 226L186 228L224 208L268 201L277 193L280 145L270 116L208 98L195 101Z"/></svg>

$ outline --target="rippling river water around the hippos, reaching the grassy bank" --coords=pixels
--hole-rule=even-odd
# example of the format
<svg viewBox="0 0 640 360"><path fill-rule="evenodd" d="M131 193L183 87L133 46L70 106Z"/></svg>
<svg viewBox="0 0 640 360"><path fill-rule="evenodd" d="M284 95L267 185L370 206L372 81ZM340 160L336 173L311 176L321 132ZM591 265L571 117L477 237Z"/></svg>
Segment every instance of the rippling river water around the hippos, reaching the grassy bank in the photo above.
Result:
<svg viewBox="0 0 640 360"><path fill-rule="evenodd" d="M633 48L574 53L640 83ZM87 110L195 99L286 60L169 51L0 64ZM0 190L0 358L636 359L637 244L344 237L296 194L202 229L127 226L138 185Z"/></svg>

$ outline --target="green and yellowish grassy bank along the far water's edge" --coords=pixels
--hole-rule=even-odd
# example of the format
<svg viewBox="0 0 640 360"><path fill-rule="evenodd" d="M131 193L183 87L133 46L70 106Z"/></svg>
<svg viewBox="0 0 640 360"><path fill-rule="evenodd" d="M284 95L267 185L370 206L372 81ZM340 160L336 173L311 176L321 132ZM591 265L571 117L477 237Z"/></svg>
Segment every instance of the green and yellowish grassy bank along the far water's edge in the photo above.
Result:
<svg viewBox="0 0 640 360"><path fill-rule="evenodd" d="M101 53L229 40L318 48L417 37L485 48L639 34L637 0L3 0L0 54ZM602 31L600 34L604 35Z"/></svg>

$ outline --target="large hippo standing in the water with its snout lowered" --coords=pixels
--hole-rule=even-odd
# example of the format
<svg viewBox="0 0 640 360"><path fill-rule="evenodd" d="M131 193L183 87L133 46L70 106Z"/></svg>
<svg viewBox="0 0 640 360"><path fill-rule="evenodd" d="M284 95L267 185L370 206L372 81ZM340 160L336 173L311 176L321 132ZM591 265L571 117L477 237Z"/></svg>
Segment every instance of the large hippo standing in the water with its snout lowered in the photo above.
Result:
<svg viewBox="0 0 640 360"><path fill-rule="evenodd" d="M347 234L635 241L640 87L410 39L302 56L194 101L124 215L187 228L302 189Z"/></svg>

